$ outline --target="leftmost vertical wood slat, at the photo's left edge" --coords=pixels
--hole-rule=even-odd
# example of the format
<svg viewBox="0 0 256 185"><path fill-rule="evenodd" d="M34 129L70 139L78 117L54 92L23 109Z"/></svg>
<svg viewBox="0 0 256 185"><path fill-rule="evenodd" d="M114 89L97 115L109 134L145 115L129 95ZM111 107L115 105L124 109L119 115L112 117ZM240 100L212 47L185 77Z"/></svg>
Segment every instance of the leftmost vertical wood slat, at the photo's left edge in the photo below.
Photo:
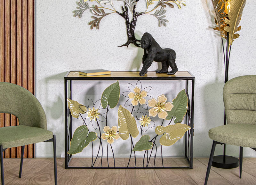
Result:
<svg viewBox="0 0 256 185"><path fill-rule="evenodd" d="M0 81L5 81L5 0L0 0ZM5 114L0 114L0 127L5 125ZM5 157L5 152L3 152Z"/></svg>

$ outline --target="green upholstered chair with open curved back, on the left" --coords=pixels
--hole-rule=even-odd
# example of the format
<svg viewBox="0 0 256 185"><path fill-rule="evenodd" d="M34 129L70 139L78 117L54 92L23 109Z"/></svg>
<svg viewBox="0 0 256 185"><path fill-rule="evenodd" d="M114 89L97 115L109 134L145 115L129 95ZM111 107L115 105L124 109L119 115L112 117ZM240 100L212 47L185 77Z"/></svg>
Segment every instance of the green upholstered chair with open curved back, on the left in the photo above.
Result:
<svg viewBox="0 0 256 185"><path fill-rule="evenodd" d="M3 152L7 148L21 147L20 174L24 157L24 145L38 142L53 142L54 180L57 184L56 142L55 135L47 130L44 109L27 89L0 82L0 113L9 113L17 116L19 126L0 128L0 163L1 182L4 185Z"/></svg>

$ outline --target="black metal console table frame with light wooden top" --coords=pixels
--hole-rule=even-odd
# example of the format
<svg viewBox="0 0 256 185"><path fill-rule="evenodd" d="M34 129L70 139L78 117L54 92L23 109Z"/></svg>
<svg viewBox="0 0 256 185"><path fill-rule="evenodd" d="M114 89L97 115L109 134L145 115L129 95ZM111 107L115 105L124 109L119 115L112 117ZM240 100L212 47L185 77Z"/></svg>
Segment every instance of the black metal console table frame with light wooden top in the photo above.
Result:
<svg viewBox="0 0 256 185"><path fill-rule="evenodd" d="M188 124L192 129L185 133L185 158L188 161L189 166L168 166L168 167L88 167L88 166L68 166L72 155L68 154L69 143L72 139L72 116L70 116L68 125L68 102L67 98L72 99L72 80L185 80L186 88L185 91L188 95L188 111L185 115L185 123ZM189 81L191 81L191 96L188 94ZM69 84L68 84L69 82ZM193 136L194 136L194 91L195 91L195 77L189 71L178 71L175 75L157 74L156 72L148 72L145 76L139 76L139 72L127 72L127 71L116 71L111 72L110 75L98 75L98 76L83 76L79 75L78 71L68 71L64 77L65 86L65 168L107 168L107 169L121 169L121 168L136 168L136 169L161 169L161 168L193 168ZM69 96L68 96L69 95ZM190 113L190 116L189 116ZM189 137L190 131L190 137Z"/></svg>

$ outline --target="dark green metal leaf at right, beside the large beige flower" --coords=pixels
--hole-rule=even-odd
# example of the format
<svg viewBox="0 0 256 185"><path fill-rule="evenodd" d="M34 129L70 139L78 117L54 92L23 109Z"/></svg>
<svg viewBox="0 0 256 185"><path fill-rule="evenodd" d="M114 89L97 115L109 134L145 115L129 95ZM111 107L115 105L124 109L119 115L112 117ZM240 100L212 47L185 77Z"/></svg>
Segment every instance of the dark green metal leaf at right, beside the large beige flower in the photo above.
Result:
<svg viewBox="0 0 256 185"><path fill-rule="evenodd" d="M166 117L167 120L172 119L174 123L182 122L184 116L188 110L188 96L185 92L185 89L180 91L175 99L172 100L173 108L171 111L167 111L168 116Z"/></svg>

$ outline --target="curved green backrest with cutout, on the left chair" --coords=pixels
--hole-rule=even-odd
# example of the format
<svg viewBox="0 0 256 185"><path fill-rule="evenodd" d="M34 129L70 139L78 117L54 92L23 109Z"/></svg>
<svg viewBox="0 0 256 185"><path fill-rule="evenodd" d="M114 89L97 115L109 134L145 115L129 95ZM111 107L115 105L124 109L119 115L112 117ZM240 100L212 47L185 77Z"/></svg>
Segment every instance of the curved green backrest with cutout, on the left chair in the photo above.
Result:
<svg viewBox="0 0 256 185"><path fill-rule="evenodd" d="M44 109L27 89L0 82L0 113L17 116L20 125L47 129Z"/></svg>

